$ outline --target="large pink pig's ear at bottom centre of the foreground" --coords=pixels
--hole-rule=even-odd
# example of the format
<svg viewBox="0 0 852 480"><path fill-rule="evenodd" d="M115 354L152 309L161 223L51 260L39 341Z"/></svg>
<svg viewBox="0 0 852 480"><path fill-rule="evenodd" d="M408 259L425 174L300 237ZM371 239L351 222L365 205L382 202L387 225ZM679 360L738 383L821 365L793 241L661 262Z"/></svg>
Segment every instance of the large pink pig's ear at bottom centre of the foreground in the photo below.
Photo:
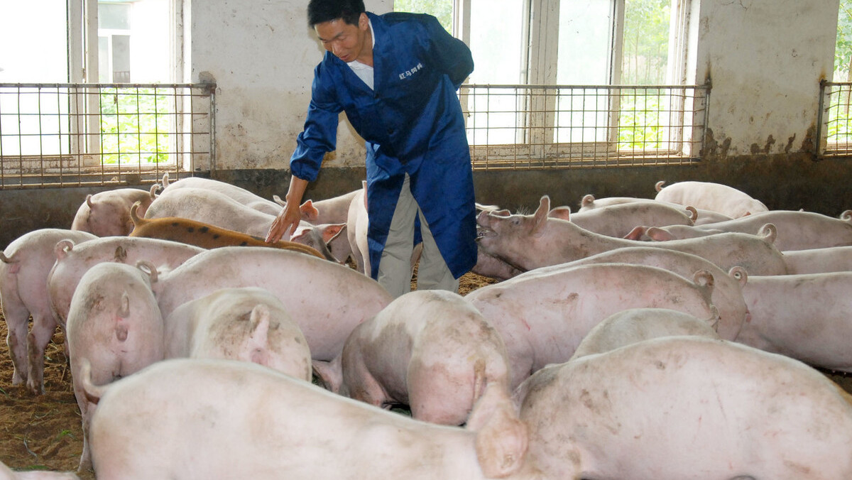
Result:
<svg viewBox="0 0 852 480"><path fill-rule="evenodd" d="M488 478L503 478L521 469L527 455L527 425L518 419L502 385L488 385L470 413L466 428L476 432L476 458Z"/></svg>

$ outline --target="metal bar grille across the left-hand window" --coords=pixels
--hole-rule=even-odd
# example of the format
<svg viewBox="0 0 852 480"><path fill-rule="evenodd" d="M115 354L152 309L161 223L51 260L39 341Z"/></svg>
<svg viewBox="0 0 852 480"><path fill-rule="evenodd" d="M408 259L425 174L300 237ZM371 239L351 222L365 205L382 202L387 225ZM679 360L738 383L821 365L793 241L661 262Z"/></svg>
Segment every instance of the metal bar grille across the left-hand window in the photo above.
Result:
<svg viewBox="0 0 852 480"><path fill-rule="evenodd" d="M215 84L0 84L0 189L215 170Z"/></svg>

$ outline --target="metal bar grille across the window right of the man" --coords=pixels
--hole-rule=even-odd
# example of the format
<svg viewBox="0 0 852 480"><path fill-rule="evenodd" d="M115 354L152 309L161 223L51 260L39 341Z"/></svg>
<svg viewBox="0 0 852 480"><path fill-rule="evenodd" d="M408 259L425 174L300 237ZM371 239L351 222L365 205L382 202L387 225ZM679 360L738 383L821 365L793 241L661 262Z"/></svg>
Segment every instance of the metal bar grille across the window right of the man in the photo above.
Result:
<svg viewBox="0 0 852 480"><path fill-rule="evenodd" d="M698 161L710 84L462 85L474 170Z"/></svg>

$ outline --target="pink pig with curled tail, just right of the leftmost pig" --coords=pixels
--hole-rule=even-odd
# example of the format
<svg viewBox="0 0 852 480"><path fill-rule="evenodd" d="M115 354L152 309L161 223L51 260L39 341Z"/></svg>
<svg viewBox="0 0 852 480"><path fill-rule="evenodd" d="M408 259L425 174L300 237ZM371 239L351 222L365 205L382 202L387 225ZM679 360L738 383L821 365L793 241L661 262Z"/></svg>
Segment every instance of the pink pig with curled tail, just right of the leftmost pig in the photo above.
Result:
<svg viewBox="0 0 852 480"><path fill-rule="evenodd" d="M71 240L55 244L55 264L46 275L50 308L64 327L71 309L71 299L83 275L97 263L118 262L135 265L145 259L158 269L176 269L201 252L203 248L170 240L136 237L106 237L75 245Z"/></svg>

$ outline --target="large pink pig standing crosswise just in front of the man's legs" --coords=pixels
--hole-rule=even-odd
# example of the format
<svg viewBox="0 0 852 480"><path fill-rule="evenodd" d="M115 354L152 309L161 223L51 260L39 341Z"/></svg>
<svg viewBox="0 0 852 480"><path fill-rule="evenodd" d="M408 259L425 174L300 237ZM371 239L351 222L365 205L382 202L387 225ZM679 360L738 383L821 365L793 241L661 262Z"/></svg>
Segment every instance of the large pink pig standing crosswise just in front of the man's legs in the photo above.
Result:
<svg viewBox="0 0 852 480"><path fill-rule="evenodd" d="M153 284L160 311L220 288L258 286L278 298L308 339L315 361L331 361L343 342L392 300L366 275L298 252L259 246L224 246L199 253Z"/></svg>

